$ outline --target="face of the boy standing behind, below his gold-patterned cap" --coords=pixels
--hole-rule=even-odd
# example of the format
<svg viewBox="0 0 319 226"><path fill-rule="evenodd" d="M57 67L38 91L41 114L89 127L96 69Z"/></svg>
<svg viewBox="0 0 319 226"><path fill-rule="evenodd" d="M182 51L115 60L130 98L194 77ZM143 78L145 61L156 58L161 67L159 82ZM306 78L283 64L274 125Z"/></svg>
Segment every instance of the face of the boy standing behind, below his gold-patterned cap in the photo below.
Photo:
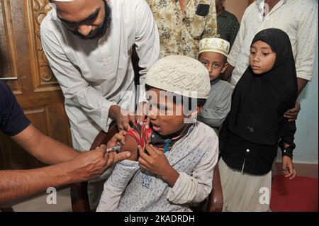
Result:
<svg viewBox="0 0 319 226"><path fill-rule="evenodd" d="M211 81L217 79L228 67L225 56L218 52L202 52L198 60L208 69Z"/></svg>

